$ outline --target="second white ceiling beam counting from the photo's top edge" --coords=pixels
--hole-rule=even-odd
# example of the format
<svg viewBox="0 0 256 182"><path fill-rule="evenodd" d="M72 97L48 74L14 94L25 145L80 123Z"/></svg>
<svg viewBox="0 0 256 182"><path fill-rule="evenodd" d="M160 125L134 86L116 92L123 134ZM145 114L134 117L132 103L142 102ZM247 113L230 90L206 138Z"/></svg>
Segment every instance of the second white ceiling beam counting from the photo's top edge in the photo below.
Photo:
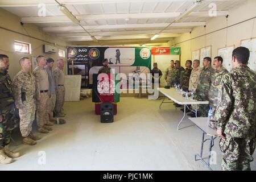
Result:
<svg viewBox="0 0 256 182"><path fill-rule="evenodd" d="M113 19L150 19L150 18L176 18L181 12L171 13L134 13L134 14L101 14L101 15L75 15L80 21L84 20L113 20ZM228 15L229 11L216 11L217 16ZM208 11L192 12L189 16L205 17L209 16ZM188 17L189 17L188 16ZM72 22L67 16L37 16L22 17L22 23L56 23L56 22Z"/></svg>

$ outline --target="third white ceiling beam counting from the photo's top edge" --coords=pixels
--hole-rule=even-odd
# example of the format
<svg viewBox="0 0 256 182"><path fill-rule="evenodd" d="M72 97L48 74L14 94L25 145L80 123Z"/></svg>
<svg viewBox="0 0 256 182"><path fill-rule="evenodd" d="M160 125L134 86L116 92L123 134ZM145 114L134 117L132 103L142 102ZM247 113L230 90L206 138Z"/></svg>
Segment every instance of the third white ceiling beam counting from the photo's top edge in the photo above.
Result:
<svg viewBox="0 0 256 182"><path fill-rule="evenodd" d="M179 22L173 23L170 27L195 27L205 26L206 22ZM83 26L86 30L104 30L104 29L118 29L118 28L156 28L167 27L170 23L144 23L144 24L113 24L113 25L97 25L97 26ZM76 31L82 30L80 26L68 27L43 27L45 32L62 32L62 31ZM154 31L152 31L154 33Z"/></svg>

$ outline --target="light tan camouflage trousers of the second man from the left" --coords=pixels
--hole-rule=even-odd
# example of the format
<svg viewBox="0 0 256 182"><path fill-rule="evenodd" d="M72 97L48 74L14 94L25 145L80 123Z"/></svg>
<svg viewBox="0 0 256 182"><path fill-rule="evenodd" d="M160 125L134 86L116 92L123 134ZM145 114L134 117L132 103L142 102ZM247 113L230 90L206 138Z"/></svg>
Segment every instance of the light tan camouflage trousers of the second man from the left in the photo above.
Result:
<svg viewBox="0 0 256 182"><path fill-rule="evenodd" d="M19 109L19 128L22 137L27 137L32 131L32 123L35 119L35 100L24 101L23 108Z"/></svg>

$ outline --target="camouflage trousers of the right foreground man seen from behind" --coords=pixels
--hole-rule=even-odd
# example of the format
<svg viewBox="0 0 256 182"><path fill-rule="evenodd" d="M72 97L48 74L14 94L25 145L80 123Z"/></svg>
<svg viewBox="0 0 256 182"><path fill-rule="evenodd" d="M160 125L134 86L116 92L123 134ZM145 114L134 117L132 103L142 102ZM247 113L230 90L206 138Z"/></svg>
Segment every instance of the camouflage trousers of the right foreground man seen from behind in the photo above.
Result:
<svg viewBox="0 0 256 182"><path fill-rule="evenodd" d="M219 146L223 155L222 170L251 170L250 162L253 162L252 155L255 150L254 138L227 137L226 140L220 140Z"/></svg>

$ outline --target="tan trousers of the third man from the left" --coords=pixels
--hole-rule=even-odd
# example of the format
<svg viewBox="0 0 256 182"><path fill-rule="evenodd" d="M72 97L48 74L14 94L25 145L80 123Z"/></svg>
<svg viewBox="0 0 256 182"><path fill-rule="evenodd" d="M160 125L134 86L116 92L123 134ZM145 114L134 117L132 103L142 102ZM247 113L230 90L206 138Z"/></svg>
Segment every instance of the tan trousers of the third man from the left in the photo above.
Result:
<svg viewBox="0 0 256 182"><path fill-rule="evenodd" d="M41 100L36 101L36 122L38 127L42 127L49 122L49 95L48 93L41 93Z"/></svg>

